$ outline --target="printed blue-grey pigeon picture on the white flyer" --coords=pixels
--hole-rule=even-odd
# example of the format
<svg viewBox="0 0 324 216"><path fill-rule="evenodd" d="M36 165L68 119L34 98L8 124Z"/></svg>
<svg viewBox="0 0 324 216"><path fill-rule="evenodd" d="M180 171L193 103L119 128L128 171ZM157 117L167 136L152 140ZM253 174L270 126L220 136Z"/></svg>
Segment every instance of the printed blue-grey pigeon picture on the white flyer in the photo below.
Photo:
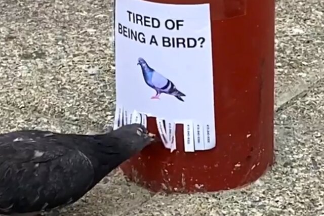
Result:
<svg viewBox="0 0 324 216"><path fill-rule="evenodd" d="M156 91L156 95L151 97L151 99L159 99L160 94L165 93L176 97L180 101L184 101L181 97L185 97L186 95L177 90L175 84L170 79L148 66L143 58L138 58L137 64L142 68L146 84Z"/></svg>

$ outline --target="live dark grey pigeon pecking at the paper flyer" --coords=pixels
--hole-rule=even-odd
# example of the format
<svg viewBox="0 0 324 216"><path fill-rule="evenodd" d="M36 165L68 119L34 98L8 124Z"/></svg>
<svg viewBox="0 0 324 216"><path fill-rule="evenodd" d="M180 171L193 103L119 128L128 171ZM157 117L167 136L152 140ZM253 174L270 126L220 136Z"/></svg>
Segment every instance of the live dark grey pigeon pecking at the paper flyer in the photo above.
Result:
<svg viewBox="0 0 324 216"><path fill-rule="evenodd" d="M0 135L0 214L37 215L77 201L153 137L140 124L101 135Z"/></svg>

